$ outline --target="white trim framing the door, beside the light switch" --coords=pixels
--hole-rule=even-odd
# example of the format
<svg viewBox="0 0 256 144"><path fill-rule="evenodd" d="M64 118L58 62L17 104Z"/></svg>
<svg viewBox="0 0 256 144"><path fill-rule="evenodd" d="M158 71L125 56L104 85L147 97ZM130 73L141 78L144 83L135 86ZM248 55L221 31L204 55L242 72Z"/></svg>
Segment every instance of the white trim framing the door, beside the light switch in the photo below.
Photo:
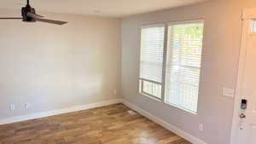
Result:
<svg viewBox="0 0 256 144"><path fill-rule="evenodd" d="M242 12L242 32L241 32L241 48L239 55L239 66L236 78L236 96L232 120L232 130L230 135L230 144L236 144L236 132L238 130L239 112L241 104L241 89L243 81L243 73L247 55L247 39L250 32L250 20L256 18L256 9L244 9ZM249 27L248 27L249 26Z"/></svg>

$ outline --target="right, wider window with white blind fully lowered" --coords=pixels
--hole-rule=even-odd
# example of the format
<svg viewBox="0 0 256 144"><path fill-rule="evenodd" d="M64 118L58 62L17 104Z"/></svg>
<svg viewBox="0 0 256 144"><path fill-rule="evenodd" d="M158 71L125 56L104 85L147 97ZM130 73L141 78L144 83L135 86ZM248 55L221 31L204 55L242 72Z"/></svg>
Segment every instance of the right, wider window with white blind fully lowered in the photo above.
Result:
<svg viewBox="0 0 256 144"><path fill-rule="evenodd" d="M168 26L165 101L197 112L203 22Z"/></svg>

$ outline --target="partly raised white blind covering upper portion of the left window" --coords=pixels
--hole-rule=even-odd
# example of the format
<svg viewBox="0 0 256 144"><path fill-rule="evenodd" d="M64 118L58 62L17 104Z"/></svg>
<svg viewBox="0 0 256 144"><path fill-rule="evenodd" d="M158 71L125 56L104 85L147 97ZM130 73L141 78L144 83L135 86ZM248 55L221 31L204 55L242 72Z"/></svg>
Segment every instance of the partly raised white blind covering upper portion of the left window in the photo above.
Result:
<svg viewBox="0 0 256 144"><path fill-rule="evenodd" d="M140 78L162 83L164 38L165 26L142 28Z"/></svg>

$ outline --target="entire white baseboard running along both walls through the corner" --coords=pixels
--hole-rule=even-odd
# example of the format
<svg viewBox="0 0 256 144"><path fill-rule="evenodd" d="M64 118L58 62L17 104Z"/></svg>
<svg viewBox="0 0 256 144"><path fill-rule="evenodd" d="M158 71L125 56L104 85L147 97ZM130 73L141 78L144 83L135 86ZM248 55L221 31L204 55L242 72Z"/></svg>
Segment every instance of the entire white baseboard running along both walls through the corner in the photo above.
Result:
<svg viewBox="0 0 256 144"><path fill-rule="evenodd" d="M108 105L112 105L112 104L116 104L116 103L125 104L125 106L130 107L131 109L139 112L146 118L151 119L155 123L160 124L167 130L170 130L170 131L176 133L177 135L192 142L193 144L207 144L206 142L201 141L200 139L196 138L195 136L189 135L185 131L178 129L176 126L173 126L172 124L169 124L166 121L155 117L151 113L131 104L128 101L122 100L122 99L115 99L115 100L111 100L111 101L102 101L102 102L96 102L96 103L91 103L91 104L86 104L86 105L81 105L81 106L76 106L76 107L62 108L62 109L48 111L48 112L38 112L38 113L32 113L32 114L22 115L22 116L18 116L18 117L13 117L13 118L0 119L0 125L11 124L11 123L31 120L31 119L35 119L35 118L44 118L44 117L54 116L54 115L67 113L67 112L76 112L76 111L86 110L86 109L90 109L90 108L104 107L104 106L108 106Z"/></svg>

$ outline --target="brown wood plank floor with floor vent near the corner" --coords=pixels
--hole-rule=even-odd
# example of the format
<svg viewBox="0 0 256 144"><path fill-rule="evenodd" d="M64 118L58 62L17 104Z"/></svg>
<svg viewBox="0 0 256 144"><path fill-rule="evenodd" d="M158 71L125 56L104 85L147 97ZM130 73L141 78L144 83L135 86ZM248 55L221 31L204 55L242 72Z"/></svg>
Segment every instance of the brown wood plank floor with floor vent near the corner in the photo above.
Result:
<svg viewBox="0 0 256 144"><path fill-rule="evenodd" d="M191 144L123 104L0 125L0 144Z"/></svg>

